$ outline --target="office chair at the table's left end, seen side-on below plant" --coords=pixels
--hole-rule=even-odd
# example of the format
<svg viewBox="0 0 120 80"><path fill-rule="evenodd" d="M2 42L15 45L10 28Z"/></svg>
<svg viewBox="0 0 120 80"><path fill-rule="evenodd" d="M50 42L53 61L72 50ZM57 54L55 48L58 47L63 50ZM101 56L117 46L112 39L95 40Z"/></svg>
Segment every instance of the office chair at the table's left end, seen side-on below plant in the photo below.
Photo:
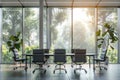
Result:
<svg viewBox="0 0 120 80"><path fill-rule="evenodd" d="M16 64L16 66L13 69L16 70L19 67L20 68L25 67L25 65L22 66L21 64L24 63L26 59L25 58L20 58L19 53L16 49L14 49L12 52L13 52L13 60L14 60L14 63ZM19 63L20 66L17 66L17 63Z"/></svg>

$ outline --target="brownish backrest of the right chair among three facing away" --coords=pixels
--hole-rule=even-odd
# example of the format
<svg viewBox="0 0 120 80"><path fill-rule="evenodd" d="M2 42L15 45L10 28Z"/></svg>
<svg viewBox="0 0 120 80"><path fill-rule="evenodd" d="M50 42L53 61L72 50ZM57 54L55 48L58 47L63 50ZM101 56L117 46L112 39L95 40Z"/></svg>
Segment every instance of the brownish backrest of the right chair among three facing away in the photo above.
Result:
<svg viewBox="0 0 120 80"><path fill-rule="evenodd" d="M86 62L86 49L75 49L74 62Z"/></svg>

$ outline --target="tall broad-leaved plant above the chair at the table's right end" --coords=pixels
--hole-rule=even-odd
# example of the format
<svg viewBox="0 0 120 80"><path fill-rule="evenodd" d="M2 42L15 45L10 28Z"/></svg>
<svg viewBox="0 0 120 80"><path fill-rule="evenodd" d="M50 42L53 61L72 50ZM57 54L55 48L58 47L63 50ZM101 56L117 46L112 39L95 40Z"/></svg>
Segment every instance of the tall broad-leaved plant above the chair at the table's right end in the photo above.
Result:
<svg viewBox="0 0 120 80"><path fill-rule="evenodd" d="M113 22L105 22L103 24L103 29L104 31L98 29L96 32L98 48L104 47L108 49L108 47L110 47L114 49L112 44L118 41L118 34Z"/></svg>

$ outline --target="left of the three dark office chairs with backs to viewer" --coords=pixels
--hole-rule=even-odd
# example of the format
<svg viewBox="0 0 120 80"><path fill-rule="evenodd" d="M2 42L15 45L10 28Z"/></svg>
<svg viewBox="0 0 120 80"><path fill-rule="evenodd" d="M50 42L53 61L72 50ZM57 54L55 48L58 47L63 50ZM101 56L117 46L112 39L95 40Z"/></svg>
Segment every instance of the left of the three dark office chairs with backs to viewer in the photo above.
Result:
<svg viewBox="0 0 120 80"><path fill-rule="evenodd" d="M43 69L43 65L45 64L45 58L44 58L44 50L43 49L34 49L33 50L33 63L39 65L39 68L35 68L33 70L33 73L36 70L41 70L43 73L46 72L46 69Z"/></svg>

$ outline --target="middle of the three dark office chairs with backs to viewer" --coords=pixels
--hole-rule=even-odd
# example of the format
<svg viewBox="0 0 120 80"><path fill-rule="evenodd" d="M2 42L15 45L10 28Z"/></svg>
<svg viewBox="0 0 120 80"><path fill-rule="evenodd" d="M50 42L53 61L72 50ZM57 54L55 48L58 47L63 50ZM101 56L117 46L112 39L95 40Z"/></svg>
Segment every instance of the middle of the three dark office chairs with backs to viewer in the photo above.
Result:
<svg viewBox="0 0 120 80"><path fill-rule="evenodd" d="M65 65L64 65L66 63L65 49L55 49L54 63L56 63L57 65L55 66L55 70L53 71L53 73L55 73L56 70L64 70L65 73L67 73L67 71L65 69ZM57 68L57 66L59 66L59 67ZM64 68L61 68L61 66L64 66Z"/></svg>

